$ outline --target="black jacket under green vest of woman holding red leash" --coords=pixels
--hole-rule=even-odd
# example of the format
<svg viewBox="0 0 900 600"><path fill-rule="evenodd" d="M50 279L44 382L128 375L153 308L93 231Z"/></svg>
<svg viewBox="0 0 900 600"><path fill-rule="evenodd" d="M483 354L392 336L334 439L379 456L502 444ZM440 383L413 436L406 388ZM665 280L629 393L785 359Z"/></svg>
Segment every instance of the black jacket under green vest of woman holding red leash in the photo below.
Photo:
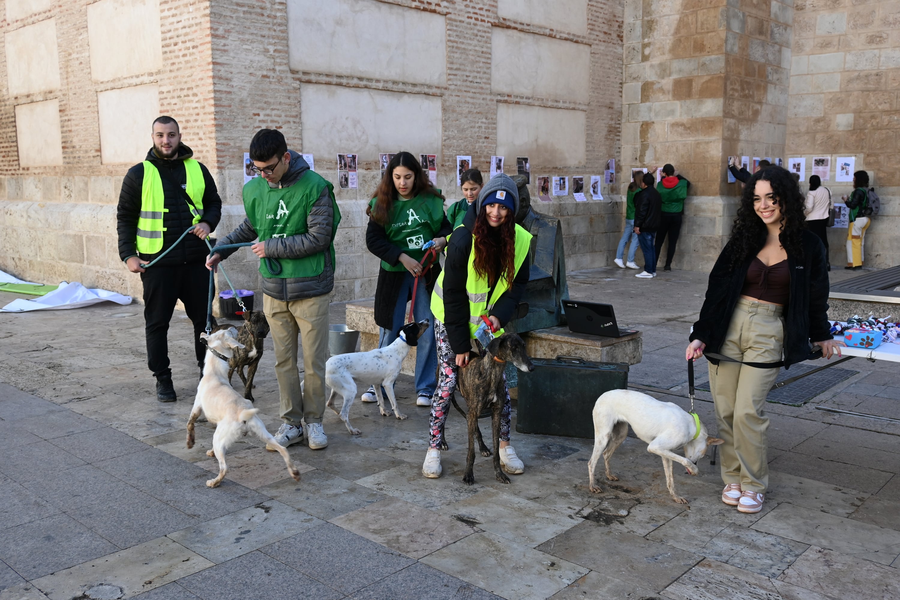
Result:
<svg viewBox="0 0 900 600"><path fill-rule="evenodd" d="M453 225L444 215L441 221L441 227L438 229L435 237L447 237L453 231ZM471 243L471 238L470 238ZM379 225L373 219L369 219L369 225L365 229L365 247L369 252L381 258L385 263L396 265L400 262L400 255L403 249L396 246L388 239L387 230L383 225ZM378 268L378 282L375 284L375 324L385 329L393 329L393 313L397 306L397 300L400 296L401 283L409 271L385 271ZM435 262L425 274L423 282L426 290L430 294L435 287L437 275L441 273L441 265ZM419 282L421 285L422 282ZM406 300L406 301L409 301ZM430 301L430 300L429 300Z"/></svg>

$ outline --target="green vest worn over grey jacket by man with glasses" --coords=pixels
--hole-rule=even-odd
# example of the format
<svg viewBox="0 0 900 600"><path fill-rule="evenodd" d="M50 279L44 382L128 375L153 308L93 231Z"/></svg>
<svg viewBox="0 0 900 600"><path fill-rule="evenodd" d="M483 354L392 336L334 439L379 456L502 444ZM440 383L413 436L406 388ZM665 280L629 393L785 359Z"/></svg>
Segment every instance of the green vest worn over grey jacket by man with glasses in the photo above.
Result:
<svg viewBox="0 0 900 600"><path fill-rule="evenodd" d="M296 184L290 187L270 187L265 177L254 177L244 185L244 210L247 219L257 230L259 241L265 242L272 237L291 237L306 233L309 228L307 219L313 204L319 200L324 188L329 189L331 210L334 210L334 228L331 230L331 268L335 268L335 236L340 223L338 201L334 198L334 185L315 171L307 171ZM266 261L259 261L259 273L263 277L295 279L298 277L316 277L325 271L325 253L302 258L279 258L282 272L272 274L266 267Z"/></svg>

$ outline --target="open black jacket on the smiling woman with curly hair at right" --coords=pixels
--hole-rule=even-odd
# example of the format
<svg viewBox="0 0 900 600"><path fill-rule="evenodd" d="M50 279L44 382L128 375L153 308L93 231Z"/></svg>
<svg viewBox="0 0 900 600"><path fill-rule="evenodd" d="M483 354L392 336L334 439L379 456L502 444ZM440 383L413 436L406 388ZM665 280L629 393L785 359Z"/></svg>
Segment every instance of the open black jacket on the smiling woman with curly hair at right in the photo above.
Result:
<svg viewBox="0 0 900 600"><path fill-rule="evenodd" d="M785 307L785 368L801 363L809 355L810 342L832 339L828 324L828 271L826 269L825 246L813 232L804 230L803 256L788 253L790 269L790 300ZM700 318L694 323L690 339L700 340L707 345L708 352L718 354L725 342L725 334L731 323L734 307L741 297L744 278L754 256L743 261L734 270L730 269L734 246L725 245L709 273L707 299L700 309ZM738 358L733 356L732 358ZM710 363L718 361L707 359Z"/></svg>

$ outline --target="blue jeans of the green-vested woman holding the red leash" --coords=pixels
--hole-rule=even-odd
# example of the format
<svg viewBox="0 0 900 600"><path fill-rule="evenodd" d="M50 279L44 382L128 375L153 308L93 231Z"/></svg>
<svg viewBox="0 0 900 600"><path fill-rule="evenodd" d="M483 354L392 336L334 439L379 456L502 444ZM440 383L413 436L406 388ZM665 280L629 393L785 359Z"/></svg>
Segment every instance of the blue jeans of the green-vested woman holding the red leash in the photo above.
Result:
<svg viewBox="0 0 900 600"><path fill-rule="evenodd" d="M415 278L409 272L404 273L400 293L397 297L397 306L394 307L393 329L379 327L378 347L391 345L400 335L401 328L406 325L406 299L412 294L412 284ZM431 295L425 289L425 278L419 280L416 289L416 304L412 309L412 316L417 321L427 318L428 329L419 336L419 345L416 346L416 391L419 396L431 398L437 388L437 349L435 348L435 317L431 314Z"/></svg>

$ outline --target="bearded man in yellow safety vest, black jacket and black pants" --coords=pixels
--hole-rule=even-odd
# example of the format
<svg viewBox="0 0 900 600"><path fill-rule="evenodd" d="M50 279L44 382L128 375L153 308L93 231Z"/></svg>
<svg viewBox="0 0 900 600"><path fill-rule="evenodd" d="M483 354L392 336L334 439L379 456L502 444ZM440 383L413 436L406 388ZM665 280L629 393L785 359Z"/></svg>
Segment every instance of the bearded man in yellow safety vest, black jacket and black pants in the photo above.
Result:
<svg viewBox="0 0 900 600"><path fill-rule="evenodd" d="M119 256L131 273L140 273L144 284L147 364L157 378L161 402L176 399L166 335L177 300L193 323L197 366L203 366L206 347L200 333L206 325L209 291L203 238L220 218L221 199L209 170L181 143L175 119L159 117L153 121L153 148L147 159L132 166L122 180L116 219ZM157 264L141 266L168 250L192 225L192 234Z"/></svg>

